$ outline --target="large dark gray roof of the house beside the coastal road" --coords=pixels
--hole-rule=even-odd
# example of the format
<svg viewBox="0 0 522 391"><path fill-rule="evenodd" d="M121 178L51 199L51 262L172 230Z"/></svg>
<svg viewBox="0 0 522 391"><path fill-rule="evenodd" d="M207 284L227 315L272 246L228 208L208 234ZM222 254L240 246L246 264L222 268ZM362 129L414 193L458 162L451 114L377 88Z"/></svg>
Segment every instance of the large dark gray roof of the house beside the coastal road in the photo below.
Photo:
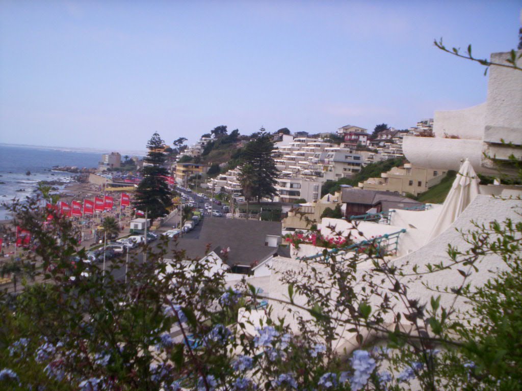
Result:
<svg viewBox="0 0 522 391"><path fill-rule="evenodd" d="M185 250L187 258L203 258L207 248L222 257L221 249L230 247L228 265L250 266L278 250L265 246L265 238L281 235L280 222L205 217L200 226L178 241L177 249Z"/></svg>

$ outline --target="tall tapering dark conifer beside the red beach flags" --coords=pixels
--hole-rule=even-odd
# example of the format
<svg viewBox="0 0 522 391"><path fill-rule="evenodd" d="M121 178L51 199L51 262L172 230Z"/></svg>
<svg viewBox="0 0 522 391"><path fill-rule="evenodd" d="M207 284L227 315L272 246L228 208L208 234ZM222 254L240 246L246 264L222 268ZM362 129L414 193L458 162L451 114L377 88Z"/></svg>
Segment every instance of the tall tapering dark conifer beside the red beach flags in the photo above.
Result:
<svg viewBox="0 0 522 391"><path fill-rule="evenodd" d="M144 178L136 189L134 207L140 211L147 211L151 219L166 215L169 212L168 207L172 206L169 186L162 178L169 175L167 168L163 166L165 155L160 152L164 143L158 133L154 133L147 143L149 152L144 161L148 165L143 167Z"/></svg>

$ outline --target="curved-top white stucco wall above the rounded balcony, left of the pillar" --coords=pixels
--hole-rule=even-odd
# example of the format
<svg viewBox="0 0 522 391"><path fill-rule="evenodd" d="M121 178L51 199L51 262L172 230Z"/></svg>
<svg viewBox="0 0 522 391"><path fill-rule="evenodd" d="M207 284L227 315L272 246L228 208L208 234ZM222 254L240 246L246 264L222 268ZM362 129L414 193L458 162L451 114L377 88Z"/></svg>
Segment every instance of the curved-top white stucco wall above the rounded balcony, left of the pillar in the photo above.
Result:
<svg viewBox="0 0 522 391"><path fill-rule="evenodd" d="M433 132L441 138L447 133L461 139L482 140L485 115L485 103L462 110L438 111L433 117Z"/></svg>

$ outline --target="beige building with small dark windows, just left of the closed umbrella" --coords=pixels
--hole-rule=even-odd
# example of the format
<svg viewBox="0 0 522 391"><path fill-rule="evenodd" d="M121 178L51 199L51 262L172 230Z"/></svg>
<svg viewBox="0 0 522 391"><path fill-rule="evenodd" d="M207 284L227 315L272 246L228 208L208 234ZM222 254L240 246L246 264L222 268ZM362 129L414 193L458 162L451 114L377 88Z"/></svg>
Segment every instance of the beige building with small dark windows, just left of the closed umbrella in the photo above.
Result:
<svg viewBox="0 0 522 391"><path fill-rule="evenodd" d="M407 193L417 196L430 187L439 184L447 170L412 167L407 163L403 167L393 167L381 178L370 178L359 183L363 190L390 191L401 196Z"/></svg>

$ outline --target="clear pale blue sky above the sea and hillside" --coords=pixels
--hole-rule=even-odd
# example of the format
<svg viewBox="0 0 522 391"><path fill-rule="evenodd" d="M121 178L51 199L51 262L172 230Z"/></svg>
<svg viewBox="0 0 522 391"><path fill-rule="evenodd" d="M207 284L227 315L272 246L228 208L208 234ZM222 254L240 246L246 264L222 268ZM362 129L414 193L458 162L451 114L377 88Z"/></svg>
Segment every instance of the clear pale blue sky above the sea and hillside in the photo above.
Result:
<svg viewBox="0 0 522 391"><path fill-rule="evenodd" d="M0 0L0 142L144 150L414 126L480 104L488 57L518 42L522 2Z"/></svg>

